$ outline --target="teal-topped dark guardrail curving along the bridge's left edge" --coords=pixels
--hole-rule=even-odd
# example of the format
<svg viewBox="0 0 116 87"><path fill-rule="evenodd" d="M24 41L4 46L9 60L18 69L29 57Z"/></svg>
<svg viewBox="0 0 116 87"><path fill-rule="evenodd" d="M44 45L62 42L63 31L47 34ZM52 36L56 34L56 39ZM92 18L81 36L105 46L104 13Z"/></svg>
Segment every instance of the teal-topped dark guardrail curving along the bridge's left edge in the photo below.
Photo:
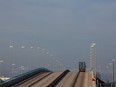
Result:
<svg viewBox="0 0 116 87"><path fill-rule="evenodd" d="M43 73L43 72L52 72L52 71L50 71L46 68L34 69L34 70L29 71L29 72L12 77L11 79L6 80L3 83L0 83L0 87L11 87L11 86L13 86L13 85L25 80L25 79L28 79L34 75L37 75L38 73Z"/></svg>

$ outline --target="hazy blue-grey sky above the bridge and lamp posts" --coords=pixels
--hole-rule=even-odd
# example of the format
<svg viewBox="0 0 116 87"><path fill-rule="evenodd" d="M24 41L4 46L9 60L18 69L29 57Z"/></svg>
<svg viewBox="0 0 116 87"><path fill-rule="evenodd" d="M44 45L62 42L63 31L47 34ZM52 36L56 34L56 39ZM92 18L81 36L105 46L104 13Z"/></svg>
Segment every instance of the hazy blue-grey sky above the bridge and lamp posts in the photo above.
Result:
<svg viewBox="0 0 116 87"><path fill-rule="evenodd" d="M11 57L25 65L32 57L33 64L52 61L35 49L40 46L66 68L77 68L79 61L89 67L96 43L97 65L103 68L116 59L115 33L116 0L0 0L0 58L6 64Z"/></svg>

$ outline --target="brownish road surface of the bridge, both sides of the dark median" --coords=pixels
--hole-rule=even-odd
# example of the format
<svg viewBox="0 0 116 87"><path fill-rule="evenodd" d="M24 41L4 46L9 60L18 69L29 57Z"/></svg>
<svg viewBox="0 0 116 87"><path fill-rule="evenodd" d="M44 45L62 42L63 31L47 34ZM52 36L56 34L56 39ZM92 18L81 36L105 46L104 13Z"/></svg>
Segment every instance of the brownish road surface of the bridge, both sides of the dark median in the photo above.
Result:
<svg viewBox="0 0 116 87"><path fill-rule="evenodd" d="M61 74L62 72L44 72L12 87L47 87ZM55 87L95 87L95 83L90 72L68 72Z"/></svg>

